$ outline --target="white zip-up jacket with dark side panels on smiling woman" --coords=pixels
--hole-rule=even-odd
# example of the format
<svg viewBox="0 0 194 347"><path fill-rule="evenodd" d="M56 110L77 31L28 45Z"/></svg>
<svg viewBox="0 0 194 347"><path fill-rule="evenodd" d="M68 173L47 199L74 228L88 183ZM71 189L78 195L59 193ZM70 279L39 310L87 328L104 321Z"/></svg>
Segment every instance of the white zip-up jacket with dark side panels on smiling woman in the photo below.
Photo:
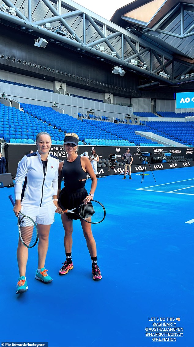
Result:
<svg viewBox="0 0 194 347"><path fill-rule="evenodd" d="M23 206L41 207L52 202L58 191L59 159L48 154L46 175L44 177L41 155L25 155L18 163L15 178L15 200Z"/></svg>

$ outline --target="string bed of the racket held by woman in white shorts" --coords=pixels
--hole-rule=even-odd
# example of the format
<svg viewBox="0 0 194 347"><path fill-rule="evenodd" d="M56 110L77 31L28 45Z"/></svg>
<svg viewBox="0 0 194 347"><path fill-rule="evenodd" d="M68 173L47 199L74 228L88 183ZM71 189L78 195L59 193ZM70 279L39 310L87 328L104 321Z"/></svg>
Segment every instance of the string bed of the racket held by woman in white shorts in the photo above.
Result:
<svg viewBox="0 0 194 347"><path fill-rule="evenodd" d="M22 242L27 247L33 247L37 242L37 228L31 218L22 217L19 219L19 233Z"/></svg>

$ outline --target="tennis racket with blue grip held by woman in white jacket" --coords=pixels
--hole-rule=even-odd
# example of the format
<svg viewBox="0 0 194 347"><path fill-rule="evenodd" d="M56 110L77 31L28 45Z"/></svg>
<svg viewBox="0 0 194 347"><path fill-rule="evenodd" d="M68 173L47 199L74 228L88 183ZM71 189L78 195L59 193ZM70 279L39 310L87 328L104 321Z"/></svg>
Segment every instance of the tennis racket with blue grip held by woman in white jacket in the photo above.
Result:
<svg viewBox="0 0 194 347"><path fill-rule="evenodd" d="M12 195L9 195L9 199L13 206L15 206L15 201ZM36 245L38 241L38 228L36 223L32 218L24 215L23 213L18 213L18 229L19 237L21 242L27 248L32 248Z"/></svg>

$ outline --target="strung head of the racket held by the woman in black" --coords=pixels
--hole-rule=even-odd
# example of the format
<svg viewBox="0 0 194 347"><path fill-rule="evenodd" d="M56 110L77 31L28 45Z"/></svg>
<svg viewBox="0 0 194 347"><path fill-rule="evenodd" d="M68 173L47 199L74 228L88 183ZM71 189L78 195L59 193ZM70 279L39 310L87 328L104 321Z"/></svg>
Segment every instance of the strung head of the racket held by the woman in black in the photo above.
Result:
<svg viewBox="0 0 194 347"><path fill-rule="evenodd" d="M101 204L95 201L90 201L87 204L82 204L79 208L80 217L91 223L99 223L104 219L105 211Z"/></svg>

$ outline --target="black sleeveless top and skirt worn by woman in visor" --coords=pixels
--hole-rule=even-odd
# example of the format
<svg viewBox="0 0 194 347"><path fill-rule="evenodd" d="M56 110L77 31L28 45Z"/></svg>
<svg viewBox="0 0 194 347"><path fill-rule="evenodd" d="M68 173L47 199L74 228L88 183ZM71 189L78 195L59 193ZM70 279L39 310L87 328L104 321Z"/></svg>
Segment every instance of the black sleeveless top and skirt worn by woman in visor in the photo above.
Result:
<svg viewBox="0 0 194 347"><path fill-rule="evenodd" d="M69 162L64 160L62 175L64 177L64 188L61 190L58 198L58 204L63 210L71 210L79 206L88 195L85 189L87 172L83 171L81 166L81 157ZM78 214L77 209L73 212ZM80 219L79 214L66 213L70 219Z"/></svg>

